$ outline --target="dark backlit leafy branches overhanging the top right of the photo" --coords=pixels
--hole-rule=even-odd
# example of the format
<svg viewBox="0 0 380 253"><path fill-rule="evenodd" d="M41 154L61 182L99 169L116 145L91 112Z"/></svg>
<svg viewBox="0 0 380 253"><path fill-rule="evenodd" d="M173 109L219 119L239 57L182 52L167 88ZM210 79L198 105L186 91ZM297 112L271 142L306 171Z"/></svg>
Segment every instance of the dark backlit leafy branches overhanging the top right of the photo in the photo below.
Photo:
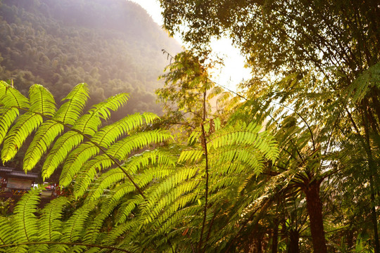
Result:
<svg viewBox="0 0 380 253"><path fill-rule="evenodd" d="M164 25L172 34L198 53L207 53L214 37L227 35L256 77L315 68L324 74L341 72L352 80L380 58L380 8L374 0L160 3Z"/></svg>

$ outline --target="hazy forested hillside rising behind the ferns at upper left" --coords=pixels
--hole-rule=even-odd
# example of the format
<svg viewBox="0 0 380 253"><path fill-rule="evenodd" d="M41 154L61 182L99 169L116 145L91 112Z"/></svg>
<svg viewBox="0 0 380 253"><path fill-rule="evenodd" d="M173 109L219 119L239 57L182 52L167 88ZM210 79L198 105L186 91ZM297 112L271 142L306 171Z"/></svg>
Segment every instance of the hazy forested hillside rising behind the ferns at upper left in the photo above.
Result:
<svg viewBox="0 0 380 253"><path fill-rule="evenodd" d="M91 104L130 93L123 114L159 112L161 49L180 50L144 9L122 0L0 1L0 38L0 79L24 94L39 83L61 100L86 82Z"/></svg>

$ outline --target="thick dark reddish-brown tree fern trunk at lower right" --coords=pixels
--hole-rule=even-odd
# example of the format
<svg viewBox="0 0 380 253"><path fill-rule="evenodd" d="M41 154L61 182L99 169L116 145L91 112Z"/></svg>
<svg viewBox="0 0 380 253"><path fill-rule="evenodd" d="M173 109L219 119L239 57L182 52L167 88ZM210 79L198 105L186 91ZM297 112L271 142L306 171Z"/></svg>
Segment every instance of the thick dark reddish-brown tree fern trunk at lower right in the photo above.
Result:
<svg viewBox="0 0 380 253"><path fill-rule="evenodd" d="M315 253L327 253L326 239L322 219L322 202L319 198L319 181L312 181L304 189L306 195L306 207L310 219L310 231L312 234L312 246Z"/></svg>

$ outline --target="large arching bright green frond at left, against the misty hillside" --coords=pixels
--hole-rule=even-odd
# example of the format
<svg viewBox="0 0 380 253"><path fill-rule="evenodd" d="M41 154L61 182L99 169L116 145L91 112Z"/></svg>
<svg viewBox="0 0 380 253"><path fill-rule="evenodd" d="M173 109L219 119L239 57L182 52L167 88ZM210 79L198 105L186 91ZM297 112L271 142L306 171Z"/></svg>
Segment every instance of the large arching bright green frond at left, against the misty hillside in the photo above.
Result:
<svg viewBox="0 0 380 253"><path fill-rule="evenodd" d="M1 121L6 122L6 128L3 128L2 131L3 135L8 128L7 125L10 125L15 115L17 115L17 111L13 108L18 110L27 109L25 114L16 119L15 124L4 139L4 146L1 150L2 160L4 162L10 160L23 144L25 138L34 129L37 129L34 140L25 155L24 169L25 171L29 171L37 164L42 155L46 153L54 138L62 133L64 126L68 131L58 137L42 167L42 176L46 179L53 174L53 171L60 164L66 161L63 165L63 174L61 175L61 184L63 186L67 186L73 176L80 171L80 168L92 157L98 155L100 150L111 157L111 160L112 157L116 156L116 150L118 154L122 154L119 155L119 160L125 160L132 150L142 148L144 145L164 141L170 137L164 131L154 131L147 134L139 134L134 138L127 136L123 137L124 140L118 140L120 137L129 134L133 129L141 126L144 119L147 122L156 119L151 114L126 117L120 120L120 122L116 122L111 126L105 126L104 129L98 131L101 119L108 119L111 110L118 110L127 101L125 94L108 98L108 100L94 105L89 112L81 116L88 96L86 84L76 86L64 98L66 102L63 103L58 111L55 109L51 93L37 84L30 88L30 103L27 98L5 82L1 82L1 91L3 92L0 94L1 110L4 111L4 114L1 115ZM46 119L46 122L42 123L44 119ZM93 135L96 136L91 138ZM87 140L87 142L82 143L84 140ZM110 147L110 154L108 154L103 148L108 148L112 143L114 146ZM101 148L101 145L104 147ZM91 152L89 152L90 150ZM121 153L120 150L124 150L124 153ZM112 163L115 164L115 160Z"/></svg>

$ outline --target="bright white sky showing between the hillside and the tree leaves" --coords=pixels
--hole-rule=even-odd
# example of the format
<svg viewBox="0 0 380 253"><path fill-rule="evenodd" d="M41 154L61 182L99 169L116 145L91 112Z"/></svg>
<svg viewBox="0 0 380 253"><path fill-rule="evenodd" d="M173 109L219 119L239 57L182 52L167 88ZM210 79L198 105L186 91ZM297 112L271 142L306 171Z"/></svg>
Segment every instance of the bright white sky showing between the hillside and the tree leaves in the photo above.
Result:
<svg viewBox="0 0 380 253"><path fill-rule="evenodd" d="M130 0L141 5L151 15L158 25L163 25L160 4L156 0ZM179 39L177 39L179 40ZM179 41L181 43L181 41ZM222 86L236 91L236 84L242 79L249 79L250 71L244 68L244 58L239 50L231 45L229 39L222 39L213 43L213 50L218 56L224 58L224 67L215 70L214 81Z"/></svg>

